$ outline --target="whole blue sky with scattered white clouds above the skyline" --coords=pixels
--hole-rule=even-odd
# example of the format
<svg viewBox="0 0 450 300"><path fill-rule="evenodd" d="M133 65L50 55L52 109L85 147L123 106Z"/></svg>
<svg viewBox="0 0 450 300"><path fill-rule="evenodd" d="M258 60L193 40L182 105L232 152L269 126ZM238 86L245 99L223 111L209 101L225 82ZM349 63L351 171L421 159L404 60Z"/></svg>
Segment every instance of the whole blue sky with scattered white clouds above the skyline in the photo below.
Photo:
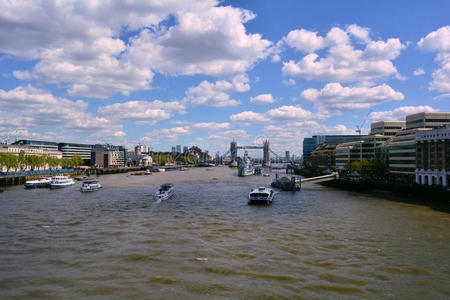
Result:
<svg viewBox="0 0 450 300"><path fill-rule="evenodd" d="M0 7L0 139L301 155L304 137L450 111L447 0Z"/></svg>

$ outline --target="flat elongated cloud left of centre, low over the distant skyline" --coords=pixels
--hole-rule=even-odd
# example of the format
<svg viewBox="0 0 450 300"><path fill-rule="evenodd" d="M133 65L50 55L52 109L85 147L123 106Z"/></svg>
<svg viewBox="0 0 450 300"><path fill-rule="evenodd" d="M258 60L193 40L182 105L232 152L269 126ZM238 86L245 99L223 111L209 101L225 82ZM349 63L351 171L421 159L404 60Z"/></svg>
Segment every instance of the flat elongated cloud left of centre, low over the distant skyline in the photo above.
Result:
<svg viewBox="0 0 450 300"><path fill-rule="evenodd" d="M178 101L128 101L101 106L98 109L98 115L111 120L153 125L158 121L170 119L173 113L182 114L185 109L185 106Z"/></svg>

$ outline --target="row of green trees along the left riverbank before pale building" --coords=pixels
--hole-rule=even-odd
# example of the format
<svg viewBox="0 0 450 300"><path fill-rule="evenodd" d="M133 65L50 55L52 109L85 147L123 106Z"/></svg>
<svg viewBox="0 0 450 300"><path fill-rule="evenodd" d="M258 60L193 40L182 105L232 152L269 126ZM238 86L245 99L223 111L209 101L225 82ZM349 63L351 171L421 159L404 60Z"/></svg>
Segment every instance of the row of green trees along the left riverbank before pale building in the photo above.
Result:
<svg viewBox="0 0 450 300"><path fill-rule="evenodd" d="M48 155L0 153L0 170L6 169L6 172L78 167L83 162L80 155L74 155L71 158L55 158Z"/></svg>

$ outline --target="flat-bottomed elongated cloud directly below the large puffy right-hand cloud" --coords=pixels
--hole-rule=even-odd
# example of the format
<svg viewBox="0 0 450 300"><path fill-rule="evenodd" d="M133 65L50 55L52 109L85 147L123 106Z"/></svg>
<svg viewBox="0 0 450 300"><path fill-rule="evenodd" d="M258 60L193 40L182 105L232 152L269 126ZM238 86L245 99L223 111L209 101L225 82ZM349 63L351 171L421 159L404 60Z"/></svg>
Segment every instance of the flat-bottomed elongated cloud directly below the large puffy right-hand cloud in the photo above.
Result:
<svg viewBox="0 0 450 300"><path fill-rule="evenodd" d="M340 114L343 111L404 99L402 93L396 92L386 84L375 87L343 87L340 83L329 83L321 90L306 89L301 96L306 101L314 102L320 112L330 114Z"/></svg>

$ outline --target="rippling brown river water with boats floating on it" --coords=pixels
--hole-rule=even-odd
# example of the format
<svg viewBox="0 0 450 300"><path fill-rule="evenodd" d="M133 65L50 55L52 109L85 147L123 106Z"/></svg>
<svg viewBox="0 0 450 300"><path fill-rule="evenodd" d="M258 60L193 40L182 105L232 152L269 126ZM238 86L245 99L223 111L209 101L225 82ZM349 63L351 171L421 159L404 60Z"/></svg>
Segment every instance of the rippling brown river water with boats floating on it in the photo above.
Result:
<svg viewBox="0 0 450 300"><path fill-rule="evenodd" d="M450 215L217 167L0 193L2 299L449 299ZM213 178L217 180L213 180ZM175 196L156 202L165 182Z"/></svg>

